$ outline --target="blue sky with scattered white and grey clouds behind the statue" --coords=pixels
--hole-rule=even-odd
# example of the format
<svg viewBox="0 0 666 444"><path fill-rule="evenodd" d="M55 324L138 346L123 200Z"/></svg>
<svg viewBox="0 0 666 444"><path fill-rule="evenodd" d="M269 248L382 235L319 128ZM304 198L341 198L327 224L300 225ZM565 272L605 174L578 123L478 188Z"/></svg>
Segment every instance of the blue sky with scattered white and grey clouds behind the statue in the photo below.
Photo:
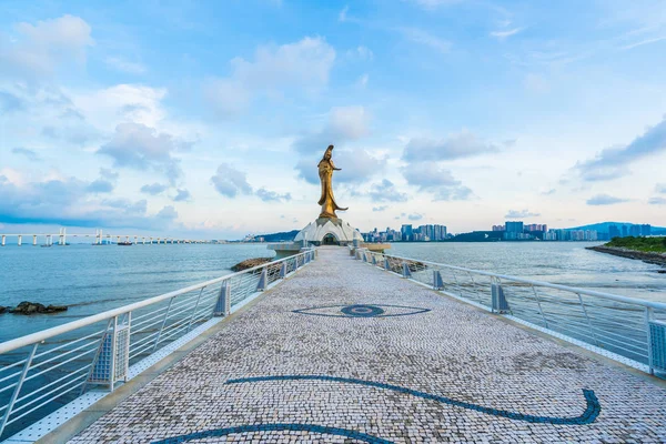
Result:
<svg viewBox="0 0 666 444"><path fill-rule="evenodd" d="M666 225L663 0L0 4L0 231ZM75 230L74 228L80 228Z"/></svg>

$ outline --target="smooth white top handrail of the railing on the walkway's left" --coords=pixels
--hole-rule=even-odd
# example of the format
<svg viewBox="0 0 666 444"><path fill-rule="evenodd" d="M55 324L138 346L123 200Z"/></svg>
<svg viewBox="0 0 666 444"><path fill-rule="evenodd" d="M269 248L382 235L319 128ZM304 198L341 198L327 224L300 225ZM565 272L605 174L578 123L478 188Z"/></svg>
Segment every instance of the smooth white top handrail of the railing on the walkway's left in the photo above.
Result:
<svg viewBox="0 0 666 444"><path fill-rule="evenodd" d="M280 260L276 260L276 261L272 261L272 262L269 262L269 263L260 264L260 265L253 266L253 268L248 269L248 270L243 270L243 271L239 271L239 272L235 272L235 273L226 274L226 275L221 276L221 278L215 278L215 279L212 279L210 281L201 282L201 283L198 283L198 284L194 284L194 285L190 285L188 287L184 287L184 289L181 289L181 290L175 290L175 291L172 291L172 292L169 292L169 293L164 293L164 294L161 294L159 296L149 297L147 300L139 301L139 302L135 302L133 304L123 305L123 306L120 306L118 309L108 310L108 311L102 312L102 313L93 314L91 316L87 316L87 317L83 317L83 319L80 319L80 320L77 320L77 321L68 322L67 324L58 325L58 326L54 326L54 327L51 327L51 329L42 330L40 332L27 334L24 336L20 336L20 337L16 337L13 340L1 342L0 343L0 354L3 354L3 353L7 353L7 352L11 352L13 350L17 350L17 349L21 349L21 347L28 346L30 344L39 343L39 342L48 340L49 337L57 336L57 335L63 334L63 333L68 333L68 332L71 332L73 330L80 329L82 326L91 325L91 324L94 324L94 323L100 322L100 321L109 320L109 319L119 316L121 314L125 314L125 313L132 312L132 311L134 311L137 309L142 309L144 306L152 305L152 304L155 304L158 302L162 302L162 301L165 301L168 299L171 299L171 297L184 294L184 293L189 293L189 292L194 291L194 290L199 290L199 289L202 289L202 287L205 287L205 286L210 286L210 285L220 283L222 281L226 281L229 279L232 279L232 278L241 275L241 274L251 273L251 272L253 272L255 270L260 270L260 269L269 266L271 264L281 263L281 262L284 262L286 260L301 256L303 254L306 254L306 253L299 253L299 254L295 254L293 256L287 256L287 258L283 258L283 259L280 259Z"/></svg>

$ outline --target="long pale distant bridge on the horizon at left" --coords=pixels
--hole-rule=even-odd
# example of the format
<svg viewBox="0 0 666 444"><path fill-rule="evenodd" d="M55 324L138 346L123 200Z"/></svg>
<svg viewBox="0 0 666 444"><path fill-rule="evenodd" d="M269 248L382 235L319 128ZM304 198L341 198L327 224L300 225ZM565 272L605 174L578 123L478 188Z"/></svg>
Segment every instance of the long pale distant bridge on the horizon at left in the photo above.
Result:
<svg viewBox="0 0 666 444"><path fill-rule="evenodd" d="M7 245L7 238L17 238L17 244L21 246L23 244L23 238L30 239L32 236L32 245L37 245L38 238L44 239L44 245L53 245L53 241L57 241L58 245L67 245L68 238L94 238L94 245L112 244L120 242L132 242L140 245L151 244L185 244L185 243L213 243L209 240L194 240L194 239L182 239L171 236L148 236L143 234L104 234L102 230L95 230L94 234L91 233L68 233L67 229L62 228L58 233L20 233L12 234L6 233L0 234L0 246ZM114 242L115 241L115 242Z"/></svg>

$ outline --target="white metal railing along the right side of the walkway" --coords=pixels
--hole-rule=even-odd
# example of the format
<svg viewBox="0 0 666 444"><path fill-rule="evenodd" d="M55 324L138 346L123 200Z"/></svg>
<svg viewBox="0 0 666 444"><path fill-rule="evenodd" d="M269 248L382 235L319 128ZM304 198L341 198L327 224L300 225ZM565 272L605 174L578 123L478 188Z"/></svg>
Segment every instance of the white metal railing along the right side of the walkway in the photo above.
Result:
<svg viewBox="0 0 666 444"><path fill-rule="evenodd" d="M666 373L666 303L356 250L356 259L650 374Z"/></svg>

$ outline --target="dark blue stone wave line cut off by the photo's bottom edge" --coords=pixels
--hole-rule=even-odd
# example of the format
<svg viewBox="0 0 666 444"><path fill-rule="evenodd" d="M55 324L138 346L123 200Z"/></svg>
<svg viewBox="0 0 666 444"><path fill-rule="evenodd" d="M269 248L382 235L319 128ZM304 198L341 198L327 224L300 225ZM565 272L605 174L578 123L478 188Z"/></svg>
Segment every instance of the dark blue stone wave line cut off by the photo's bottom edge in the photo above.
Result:
<svg viewBox="0 0 666 444"><path fill-rule="evenodd" d="M165 440L153 441L152 444L176 444L176 443L186 443L192 440L204 440L209 437L220 437L226 436L234 433L252 433L252 432L309 432L309 433L319 433L325 435L335 435L335 436L345 436L352 440L363 441L370 444L393 444L393 441L382 440L381 437L376 437L373 435L369 435L366 433L356 432L349 428L340 428L340 427L326 427L323 425L313 425L313 424L249 424L249 425L238 425L234 427L226 428L213 428L203 432L190 433L188 435L180 435L168 437Z"/></svg>

